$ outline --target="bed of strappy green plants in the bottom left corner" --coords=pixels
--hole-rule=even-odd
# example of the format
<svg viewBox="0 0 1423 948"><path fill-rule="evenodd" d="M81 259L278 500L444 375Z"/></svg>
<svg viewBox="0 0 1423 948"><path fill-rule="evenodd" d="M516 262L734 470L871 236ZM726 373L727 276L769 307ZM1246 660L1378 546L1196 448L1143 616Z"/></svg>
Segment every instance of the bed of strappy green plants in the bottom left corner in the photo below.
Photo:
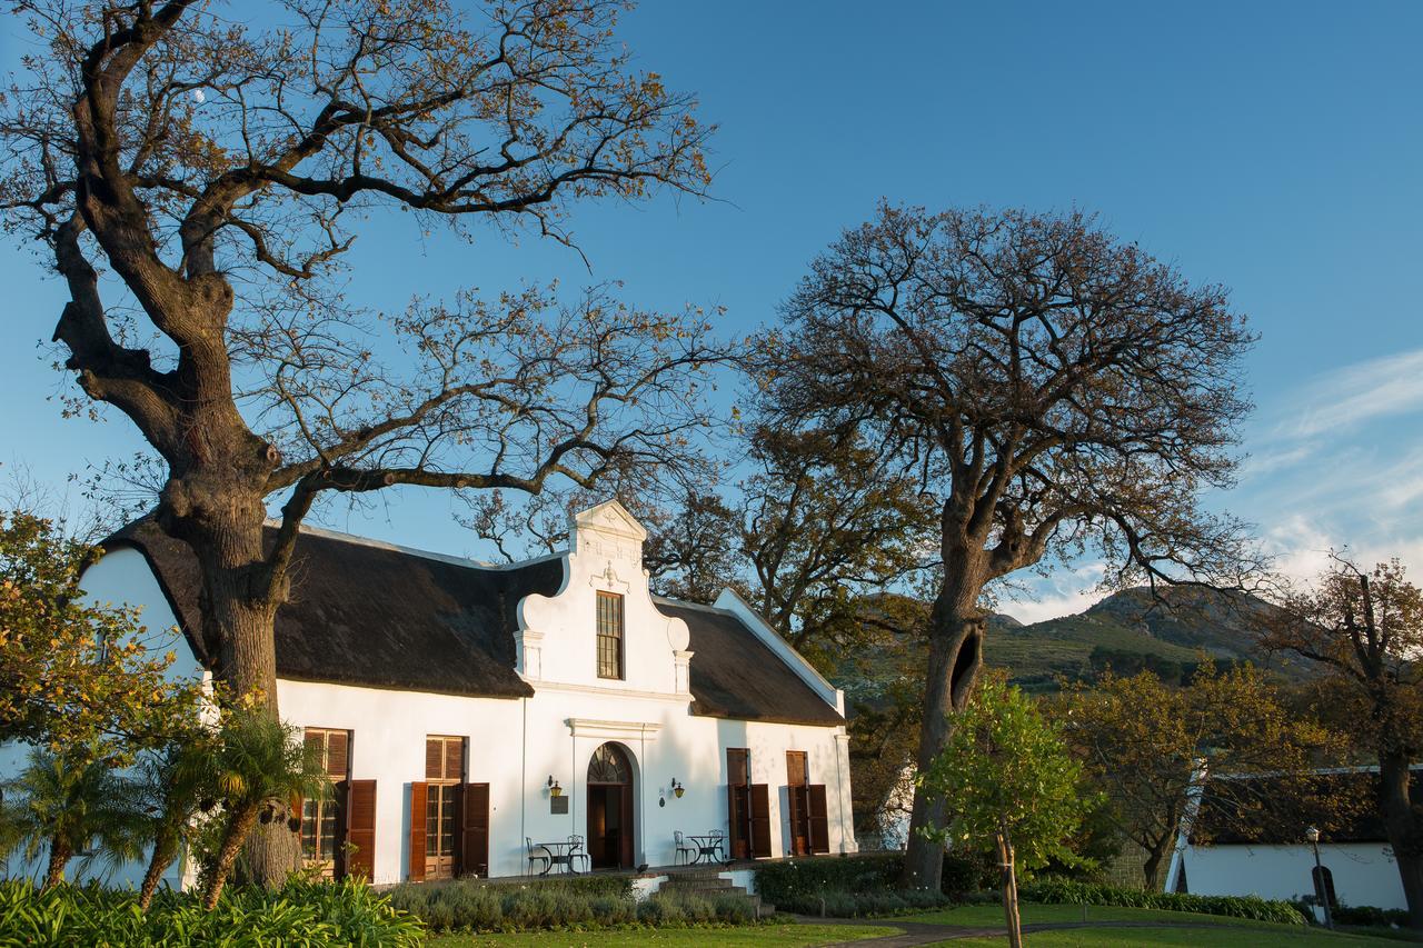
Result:
<svg viewBox="0 0 1423 948"><path fill-rule="evenodd" d="M138 895L97 884L40 892L0 883L0 945L423 945L424 924L360 883L293 883L277 891L229 888L213 911L196 894L159 892L145 915Z"/></svg>

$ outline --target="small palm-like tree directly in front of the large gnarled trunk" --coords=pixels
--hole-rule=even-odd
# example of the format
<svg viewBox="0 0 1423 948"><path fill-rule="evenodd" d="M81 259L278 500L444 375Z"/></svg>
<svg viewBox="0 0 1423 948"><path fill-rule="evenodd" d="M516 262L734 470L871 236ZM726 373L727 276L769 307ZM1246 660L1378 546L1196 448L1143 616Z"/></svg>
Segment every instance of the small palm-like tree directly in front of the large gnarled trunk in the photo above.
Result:
<svg viewBox="0 0 1423 948"><path fill-rule="evenodd" d="M286 823L295 834L302 827L302 799L330 793L322 762L303 746L297 729L272 720L256 707L228 716L211 767L223 824L205 867L202 902L208 908L218 904L238 853L259 821Z"/></svg>

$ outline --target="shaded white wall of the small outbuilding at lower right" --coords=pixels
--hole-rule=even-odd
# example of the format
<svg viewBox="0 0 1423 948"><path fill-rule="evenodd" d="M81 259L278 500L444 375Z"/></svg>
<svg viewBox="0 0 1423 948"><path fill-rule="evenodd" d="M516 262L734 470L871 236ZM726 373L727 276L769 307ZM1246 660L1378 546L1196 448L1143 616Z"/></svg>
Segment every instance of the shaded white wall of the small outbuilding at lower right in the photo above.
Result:
<svg viewBox="0 0 1423 948"><path fill-rule="evenodd" d="M1345 905L1406 908L1399 868L1387 847L1319 846L1335 895ZM1298 898L1313 894L1315 855L1308 846L1190 846L1181 853L1187 891L1197 895Z"/></svg>

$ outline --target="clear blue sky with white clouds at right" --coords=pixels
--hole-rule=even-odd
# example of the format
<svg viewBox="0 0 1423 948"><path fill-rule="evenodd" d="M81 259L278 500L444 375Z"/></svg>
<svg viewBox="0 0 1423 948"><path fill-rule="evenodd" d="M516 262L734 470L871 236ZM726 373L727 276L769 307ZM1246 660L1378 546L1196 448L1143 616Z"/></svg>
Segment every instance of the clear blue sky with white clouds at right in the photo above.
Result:
<svg viewBox="0 0 1423 948"><path fill-rule="evenodd" d="M1232 288L1262 339L1241 484L1211 502L1295 574L1331 545L1423 569L1423 4L675 3L625 17L640 68L720 124L713 202L585 208L592 273L532 236L423 239L377 218L349 292L376 307L461 285L625 282L640 306L770 322L807 262L881 196L1097 212L1191 279ZM0 24L0 63L26 38ZM63 487L131 454L117 414L64 421L47 340L63 296L0 245L0 461ZM480 554L441 495L330 525ZM1073 612L1093 565L1035 581L1025 619Z"/></svg>

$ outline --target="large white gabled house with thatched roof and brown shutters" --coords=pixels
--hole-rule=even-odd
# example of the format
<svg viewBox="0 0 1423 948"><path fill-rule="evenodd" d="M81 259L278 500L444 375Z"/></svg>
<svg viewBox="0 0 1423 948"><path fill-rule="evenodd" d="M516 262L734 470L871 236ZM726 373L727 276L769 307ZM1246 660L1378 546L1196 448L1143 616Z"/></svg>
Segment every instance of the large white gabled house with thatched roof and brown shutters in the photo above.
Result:
<svg viewBox="0 0 1423 948"><path fill-rule="evenodd" d="M844 696L736 594L653 596L645 538L616 501L509 567L305 530L277 703L337 784L306 804L307 858L397 883L541 871L571 836L593 868L673 864L676 831L854 851ZM147 521L107 549L85 589L181 628L203 668L192 552Z"/></svg>

